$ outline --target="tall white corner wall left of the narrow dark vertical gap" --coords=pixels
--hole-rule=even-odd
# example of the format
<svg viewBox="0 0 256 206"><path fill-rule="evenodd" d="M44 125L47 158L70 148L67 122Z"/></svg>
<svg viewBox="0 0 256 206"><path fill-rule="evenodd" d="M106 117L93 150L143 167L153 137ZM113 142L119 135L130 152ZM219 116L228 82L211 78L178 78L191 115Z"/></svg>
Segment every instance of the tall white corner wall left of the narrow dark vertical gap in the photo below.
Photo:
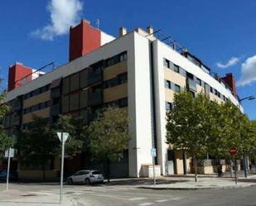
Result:
<svg viewBox="0 0 256 206"><path fill-rule="evenodd" d="M151 105L151 67L150 67L150 54L149 54L149 41L147 38L138 35L134 32L134 68L129 70L132 74L129 77L134 80L130 83L128 90L129 95L129 111L135 115L136 136L129 148L129 164L132 165L134 160L137 160L136 168L130 166L130 176L138 177L142 175L142 164L152 164L152 105ZM130 76L131 75L131 76ZM130 95L131 94L131 95ZM134 101L135 108L131 107L130 102ZM134 111L131 111L135 109ZM133 144L133 145L132 145Z"/></svg>

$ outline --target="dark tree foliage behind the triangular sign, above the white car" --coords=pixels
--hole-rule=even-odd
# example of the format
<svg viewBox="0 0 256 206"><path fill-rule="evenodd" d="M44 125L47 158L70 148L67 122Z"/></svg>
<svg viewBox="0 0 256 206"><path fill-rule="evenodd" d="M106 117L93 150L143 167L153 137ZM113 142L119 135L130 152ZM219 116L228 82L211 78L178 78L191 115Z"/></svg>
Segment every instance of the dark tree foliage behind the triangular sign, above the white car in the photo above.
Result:
<svg viewBox="0 0 256 206"><path fill-rule="evenodd" d="M60 115L55 131L70 134L67 141L65 141L65 154L69 158L87 150L88 138L86 138L86 127L82 117Z"/></svg>

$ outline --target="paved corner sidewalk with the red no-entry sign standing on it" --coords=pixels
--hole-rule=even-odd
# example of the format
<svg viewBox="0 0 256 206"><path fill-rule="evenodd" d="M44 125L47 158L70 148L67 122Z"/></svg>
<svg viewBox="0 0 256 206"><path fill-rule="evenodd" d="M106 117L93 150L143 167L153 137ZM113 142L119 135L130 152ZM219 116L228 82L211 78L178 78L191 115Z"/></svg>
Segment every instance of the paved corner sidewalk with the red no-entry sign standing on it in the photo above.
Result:
<svg viewBox="0 0 256 206"><path fill-rule="evenodd" d="M247 179L241 177L238 179L238 184L235 184L234 178L215 178L202 175L195 182L194 175L187 175L157 178L155 186L152 179L149 178L112 180L105 185L122 185L138 189L233 189L256 185L256 175L249 176Z"/></svg>

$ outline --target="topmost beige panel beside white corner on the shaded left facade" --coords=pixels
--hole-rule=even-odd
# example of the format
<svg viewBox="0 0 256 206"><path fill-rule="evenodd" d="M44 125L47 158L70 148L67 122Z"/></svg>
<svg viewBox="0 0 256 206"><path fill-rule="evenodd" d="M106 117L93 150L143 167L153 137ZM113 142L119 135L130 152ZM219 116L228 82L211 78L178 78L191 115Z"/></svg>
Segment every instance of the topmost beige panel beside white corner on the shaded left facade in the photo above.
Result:
<svg viewBox="0 0 256 206"><path fill-rule="evenodd" d="M104 81L113 79L118 74L123 74L127 72L127 61L119 62L116 65L109 66L104 69Z"/></svg>

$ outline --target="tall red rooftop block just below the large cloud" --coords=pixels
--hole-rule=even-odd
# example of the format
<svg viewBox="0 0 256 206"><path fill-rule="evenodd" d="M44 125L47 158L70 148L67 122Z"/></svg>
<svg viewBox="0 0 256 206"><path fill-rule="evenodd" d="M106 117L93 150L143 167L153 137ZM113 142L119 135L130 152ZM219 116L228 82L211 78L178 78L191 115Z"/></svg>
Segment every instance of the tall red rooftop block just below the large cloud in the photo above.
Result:
<svg viewBox="0 0 256 206"><path fill-rule="evenodd" d="M70 27L70 61L99 48L100 31L89 22L81 21L78 26Z"/></svg>

